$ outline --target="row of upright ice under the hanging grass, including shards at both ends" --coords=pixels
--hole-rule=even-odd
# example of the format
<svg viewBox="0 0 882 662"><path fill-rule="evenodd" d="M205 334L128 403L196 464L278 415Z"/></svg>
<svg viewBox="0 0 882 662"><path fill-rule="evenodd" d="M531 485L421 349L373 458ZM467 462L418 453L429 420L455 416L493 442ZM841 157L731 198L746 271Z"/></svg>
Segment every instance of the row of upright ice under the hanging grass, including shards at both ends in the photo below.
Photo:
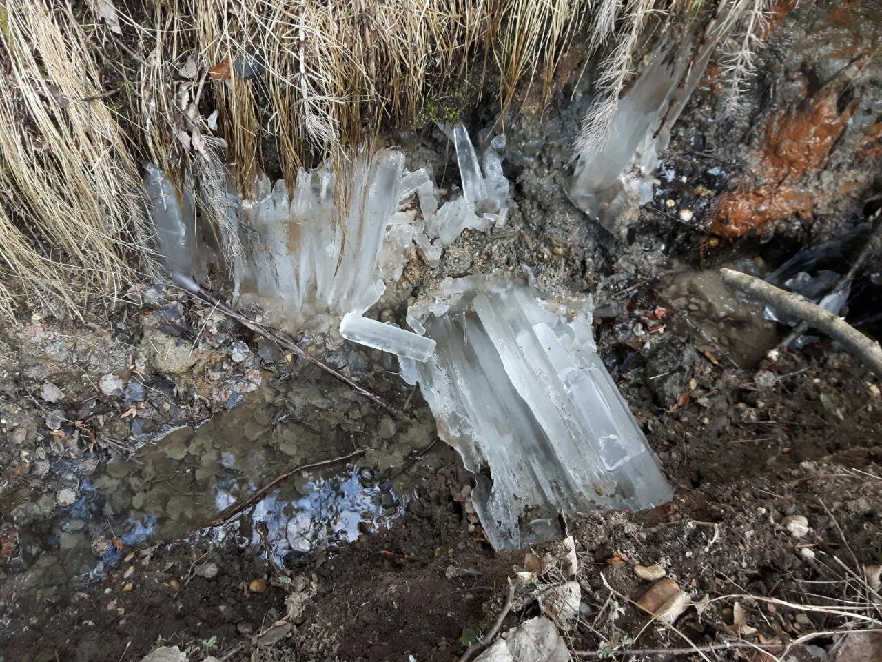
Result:
<svg viewBox="0 0 882 662"><path fill-rule="evenodd" d="M444 129L456 148L462 187L443 204L447 192L437 189L430 172L407 172L404 154L394 149L358 154L342 174L330 164L301 169L292 191L284 181L261 175L249 196L228 185L211 199L198 199L213 217L223 218L221 231L236 234L227 243L241 246L242 255L226 266L241 301L260 305L290 330L325 331L377 303L413 250L437 266L443 247L463 229L504 223L505 139L490 141L481 164L462 124ZM213 241L199 223L198 196L175 190L152 165L145 184L159 252L176 280L200 282L209 263L231 261L217 250L224 242Z"/></svg>

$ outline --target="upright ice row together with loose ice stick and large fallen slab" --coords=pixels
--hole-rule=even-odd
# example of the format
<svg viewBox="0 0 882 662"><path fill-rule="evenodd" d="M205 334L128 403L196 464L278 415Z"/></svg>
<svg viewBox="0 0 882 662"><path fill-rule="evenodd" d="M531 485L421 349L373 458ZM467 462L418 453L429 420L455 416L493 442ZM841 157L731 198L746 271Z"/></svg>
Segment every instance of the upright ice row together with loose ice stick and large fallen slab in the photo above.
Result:
<svg viewBox="0 0 882 662"><path fill-rule="evenodd" d="M215 218L226 214L222 226L241 246L230 269L241 298L289 329L339 322L348 340L398 355L439 435L475 474L475 508L497 548L555 537L559 515L669 500L647 440L596 353L587 299L472 276L446 279L412 305L413 330L364 315L412 252L434 266L463 229L505 223L505 141L492 139L479 159L464 126L441 129L456 149L460 191L438 190L428 170L407 172L403 154L386 149L355 159L345 194L321 167L302 170L293 191L260 177L249 198L227 192L215 202ZM146 177L166 266L184 284L198 281L206 263L218 261L210 243L197 245L198 205L173 191L161 170L148 168Z"/></svg>

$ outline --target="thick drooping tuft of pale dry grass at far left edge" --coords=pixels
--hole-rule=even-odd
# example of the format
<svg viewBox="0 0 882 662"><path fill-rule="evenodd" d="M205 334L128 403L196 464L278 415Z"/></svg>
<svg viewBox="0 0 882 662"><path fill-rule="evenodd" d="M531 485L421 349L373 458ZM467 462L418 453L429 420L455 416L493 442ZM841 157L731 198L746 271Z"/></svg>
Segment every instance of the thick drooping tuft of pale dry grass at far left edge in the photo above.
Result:
<svg viewBox="0 0 882 662"><path fill-rule="evenodd" d="M6 0L0 52L0 305L73 308L134 275L149 233L138 169L70 8Z"/></svg>

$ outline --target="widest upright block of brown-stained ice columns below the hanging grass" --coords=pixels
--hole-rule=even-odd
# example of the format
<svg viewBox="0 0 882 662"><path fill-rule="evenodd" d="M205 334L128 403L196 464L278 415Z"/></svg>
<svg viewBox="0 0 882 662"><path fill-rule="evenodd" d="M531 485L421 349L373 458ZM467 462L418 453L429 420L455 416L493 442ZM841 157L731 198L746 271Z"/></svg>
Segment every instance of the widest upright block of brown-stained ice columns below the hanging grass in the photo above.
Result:
<svg viewBox="0 0 882 662"><path fill-rule="evenodd" d="M395 271L384 252L392 250L387 230L394 229L400 264L412 243L404 227L411 219L393 219L403 169L400 152L360 154L342 175L328 165L301 169L290 197L285 182L258 177L254 199L243 202L250 229L243 237L243 298L254 298L289 328L307 330L326 330L347 312L375 304L384 275Z"/></svg>

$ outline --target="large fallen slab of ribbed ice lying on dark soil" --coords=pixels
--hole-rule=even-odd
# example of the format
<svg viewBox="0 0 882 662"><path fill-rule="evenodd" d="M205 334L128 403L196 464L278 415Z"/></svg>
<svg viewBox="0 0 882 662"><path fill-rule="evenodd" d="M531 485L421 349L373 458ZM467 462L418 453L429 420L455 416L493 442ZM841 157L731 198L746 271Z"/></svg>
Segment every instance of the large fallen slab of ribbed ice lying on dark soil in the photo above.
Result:
<svg viewBox="0 0 882 662"><path fill-rule="evenodd" d="M407 321L437 342L400 357L442 439L475 474L490 543L559 534L558 515L652 508L671 487L597 355L586 299L542 297L496 276L445 279Z"/></svg>

